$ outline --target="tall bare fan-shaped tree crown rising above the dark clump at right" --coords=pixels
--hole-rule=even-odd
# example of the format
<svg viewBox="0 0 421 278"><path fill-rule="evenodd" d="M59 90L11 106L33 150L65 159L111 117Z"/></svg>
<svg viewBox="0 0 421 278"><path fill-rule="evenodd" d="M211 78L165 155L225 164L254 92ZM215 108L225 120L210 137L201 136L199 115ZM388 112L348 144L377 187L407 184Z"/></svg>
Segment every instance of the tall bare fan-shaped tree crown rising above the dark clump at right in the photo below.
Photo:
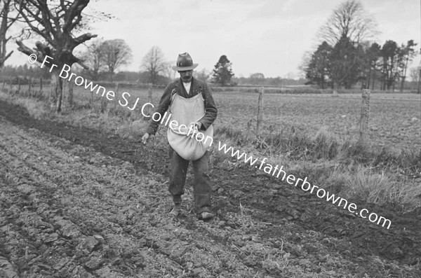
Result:
<svg viewBox="0 0 421 278"><path fill-rule="evenodd" d="M373 38L377 24L366 13L362 4L356 0L347 0L335 8L325 25L319 30L320 41L335 46L341 38L348 38L353 43Z"/></svg>

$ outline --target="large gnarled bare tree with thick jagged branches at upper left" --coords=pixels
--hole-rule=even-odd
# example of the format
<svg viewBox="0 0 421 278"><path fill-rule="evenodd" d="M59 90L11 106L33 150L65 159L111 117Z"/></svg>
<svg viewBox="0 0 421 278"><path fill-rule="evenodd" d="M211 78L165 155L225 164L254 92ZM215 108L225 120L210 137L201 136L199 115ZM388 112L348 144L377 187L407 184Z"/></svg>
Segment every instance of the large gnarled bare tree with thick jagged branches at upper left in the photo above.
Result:
<svg viewBox="0 0 421 278"><path fill-rule="evenodd" d="M15 8L19 11L27 27L22 29L22 34L36 34L45 40L44 43L36 41L36 48L25 46L18 40L18 50L26 55L36 55L38 62L43 62L48 67L51 75L51 106L57 112L62 109L62 77L60 71L65 65L79 63L87 68L79 58L73 55L73 50L81 43L94 38L97 35L90 33L80 34L85 27L82 11L88 6L89 0L25 0L15 1ZM51 58L48 58L51 57ZM67 69L67 67L66 67ZM71 98L70 98L71 99Z"/></svg>

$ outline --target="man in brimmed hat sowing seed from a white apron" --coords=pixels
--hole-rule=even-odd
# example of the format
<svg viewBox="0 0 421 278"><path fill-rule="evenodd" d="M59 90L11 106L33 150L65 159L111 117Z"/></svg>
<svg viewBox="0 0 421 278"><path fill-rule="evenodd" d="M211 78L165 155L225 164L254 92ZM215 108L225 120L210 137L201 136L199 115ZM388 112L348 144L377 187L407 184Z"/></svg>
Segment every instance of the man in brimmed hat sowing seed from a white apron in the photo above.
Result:
<svg viewBox="0 0 421 278"><path fill-rule="evenodd" d="M171 161L170 184L168 190L173 195L174 206L171 211L173 216L178 216L181 209L181 196L185 193L184 186L189 161L192 161L194 171L194 204L199 219L213 218L210 211L210 177L208 146L198 141L198 137L187 136L194 130L203 132L206 136L213 137L212 123L218 110L208 85L193 78L193 69L198 64L193 64L189 53L178 55L176 66L180 79L170 83L165 88L156 113L163 114L170 109L171 118L178 122L178 126L168 127L169 154ZM155 134L159 121L151 120L143 144L147 144L150 135ZM180 127L189 127L189 132L182 133ZM187 130L187 129L186 129Z"/></svg>

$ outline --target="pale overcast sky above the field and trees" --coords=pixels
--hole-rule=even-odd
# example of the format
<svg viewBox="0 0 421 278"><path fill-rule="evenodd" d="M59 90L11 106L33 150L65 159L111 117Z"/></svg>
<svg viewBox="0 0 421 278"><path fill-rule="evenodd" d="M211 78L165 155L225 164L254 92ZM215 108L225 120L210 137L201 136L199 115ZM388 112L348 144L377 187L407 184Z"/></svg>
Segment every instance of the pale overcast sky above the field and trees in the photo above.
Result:
<svg viewBox="0 0 421 278"><path fill-rule="evenodd" d="M142 57L159 46L166 60L187 51L199 63L196 70L213 69L227 55L236 76L260 72L267 77L299 73L306 51L317 46L317 32L339 0L91 0L96 11L116 18L95 22L90 32L104 39L124 39L133 61L122 68L140 70ZM420 0L363 0L380 34L399 45L420 43ZM14 44L14 43L13 43ZM13 46L14 47L14 46ZM10 46L12 48L12 46ZM15 51L6 64L25 64ZM411 67L419 64L419 56Z"/></svg>

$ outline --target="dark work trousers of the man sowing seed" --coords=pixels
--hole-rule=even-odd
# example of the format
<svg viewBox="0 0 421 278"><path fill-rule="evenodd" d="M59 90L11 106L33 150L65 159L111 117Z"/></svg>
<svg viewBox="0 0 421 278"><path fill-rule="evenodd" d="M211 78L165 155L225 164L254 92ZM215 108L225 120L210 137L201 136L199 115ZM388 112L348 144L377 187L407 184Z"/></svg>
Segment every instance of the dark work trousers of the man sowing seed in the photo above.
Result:
<svg viewBox="0 0 421 278"><path fill-rule="evenodd" d="M189 160L185 160L176 153L171 146L169 147L171 161L170 185L168 190L173 195L175 204L181 203L181 195L185 193L184 186L186 181L187 168ZM203 211L210 212L210 177L209 177L209 151L199 158L192 161L194 172L194 206L196 213Z"/></svg>

